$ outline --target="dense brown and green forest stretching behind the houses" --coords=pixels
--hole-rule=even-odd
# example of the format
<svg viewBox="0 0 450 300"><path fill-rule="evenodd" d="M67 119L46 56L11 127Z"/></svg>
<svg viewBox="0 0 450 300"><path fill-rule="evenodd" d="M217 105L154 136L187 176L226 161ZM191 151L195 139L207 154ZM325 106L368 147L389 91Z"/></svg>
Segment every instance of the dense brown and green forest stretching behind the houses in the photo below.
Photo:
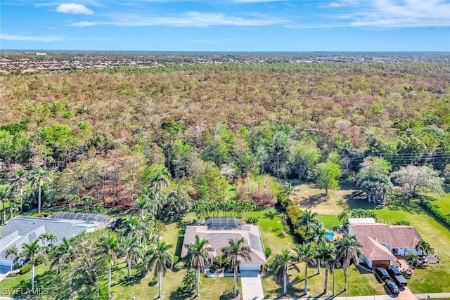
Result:
<svg viewBox="0 0 450 300"><path fill-rule="evenodd" d="M91 195L127 207L162 166L195 200L258 204L275 201L274 178L314 181L323 162L347 178L369 156L392 171L428 164L444 175L448 70L425 60L9 74L0 77L1 176L44 167L46 204ZM25 207L36 206L37 185L24 184Z"/></svg>

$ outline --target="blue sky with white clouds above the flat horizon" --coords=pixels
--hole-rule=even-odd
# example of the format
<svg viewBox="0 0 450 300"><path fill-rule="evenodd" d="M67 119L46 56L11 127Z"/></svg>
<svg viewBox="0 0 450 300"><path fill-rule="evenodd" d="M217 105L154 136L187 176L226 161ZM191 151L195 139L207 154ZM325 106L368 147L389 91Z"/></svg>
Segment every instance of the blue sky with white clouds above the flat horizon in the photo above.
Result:
<svg viewBox="0 0 450 300"><path fill-rule="evenodd" d="M0 0L0 48L450 51L450 0Z"/></svg>

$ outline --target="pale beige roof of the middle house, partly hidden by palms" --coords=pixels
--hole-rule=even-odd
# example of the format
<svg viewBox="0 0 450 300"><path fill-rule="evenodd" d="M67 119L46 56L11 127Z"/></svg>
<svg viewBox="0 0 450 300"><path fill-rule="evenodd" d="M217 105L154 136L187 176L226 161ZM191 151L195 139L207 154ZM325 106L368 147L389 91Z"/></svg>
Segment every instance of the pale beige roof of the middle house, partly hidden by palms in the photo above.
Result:
<svg viewBox="0 0 450 300"><path fill-rule="evenodd" d="M262 245L261 235L258 226L241 226L240 230L208 230L207 226L186 226L184 233L183 248L180 257L186 257L188 250L186 244L192 244L195 241L195 235L200 239L207 239L214 252L210 256L217 257L222 252L221 249L229 246L229 240L240 240L244 238L244 245L250 247L250 261L241 261L242 263L266 263L266 255Z"/></svg>

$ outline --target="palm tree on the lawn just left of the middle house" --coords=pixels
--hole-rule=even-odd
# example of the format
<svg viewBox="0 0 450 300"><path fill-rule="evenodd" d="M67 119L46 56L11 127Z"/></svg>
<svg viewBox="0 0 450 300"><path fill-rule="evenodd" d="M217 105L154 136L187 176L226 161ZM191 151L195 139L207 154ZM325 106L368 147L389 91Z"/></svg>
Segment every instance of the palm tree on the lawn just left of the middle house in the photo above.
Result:
<svg viewBox="0 0 450 300"><path fill-rule="evenodd" d="M174 264L174 254L169 251L172 247L162 240L157 241L156 244L148 250L146 256L148 257L148 268L158 275L158 298L162 298L161 294L161 280L162 275L166 275L167 269L172 268Z"/></svg>

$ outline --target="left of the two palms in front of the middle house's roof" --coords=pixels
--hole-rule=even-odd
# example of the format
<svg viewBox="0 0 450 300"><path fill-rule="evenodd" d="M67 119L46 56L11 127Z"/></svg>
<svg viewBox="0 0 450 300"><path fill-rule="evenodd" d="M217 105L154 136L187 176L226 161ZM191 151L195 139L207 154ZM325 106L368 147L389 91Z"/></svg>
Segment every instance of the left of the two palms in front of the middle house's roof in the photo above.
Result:
<svg viewBox="0 0 450 300"><path fill-rule="evenodd" d="M197 268L197 293L196 297L200 296L200 272L205 271L205 263L208 261L210 253L214 251L213 247L208 246L209 240L202 239L195 235L195 242L193 244L186 244L184 247L188 248L188 255L186 259L189 261L189 267Z"/></svg>

